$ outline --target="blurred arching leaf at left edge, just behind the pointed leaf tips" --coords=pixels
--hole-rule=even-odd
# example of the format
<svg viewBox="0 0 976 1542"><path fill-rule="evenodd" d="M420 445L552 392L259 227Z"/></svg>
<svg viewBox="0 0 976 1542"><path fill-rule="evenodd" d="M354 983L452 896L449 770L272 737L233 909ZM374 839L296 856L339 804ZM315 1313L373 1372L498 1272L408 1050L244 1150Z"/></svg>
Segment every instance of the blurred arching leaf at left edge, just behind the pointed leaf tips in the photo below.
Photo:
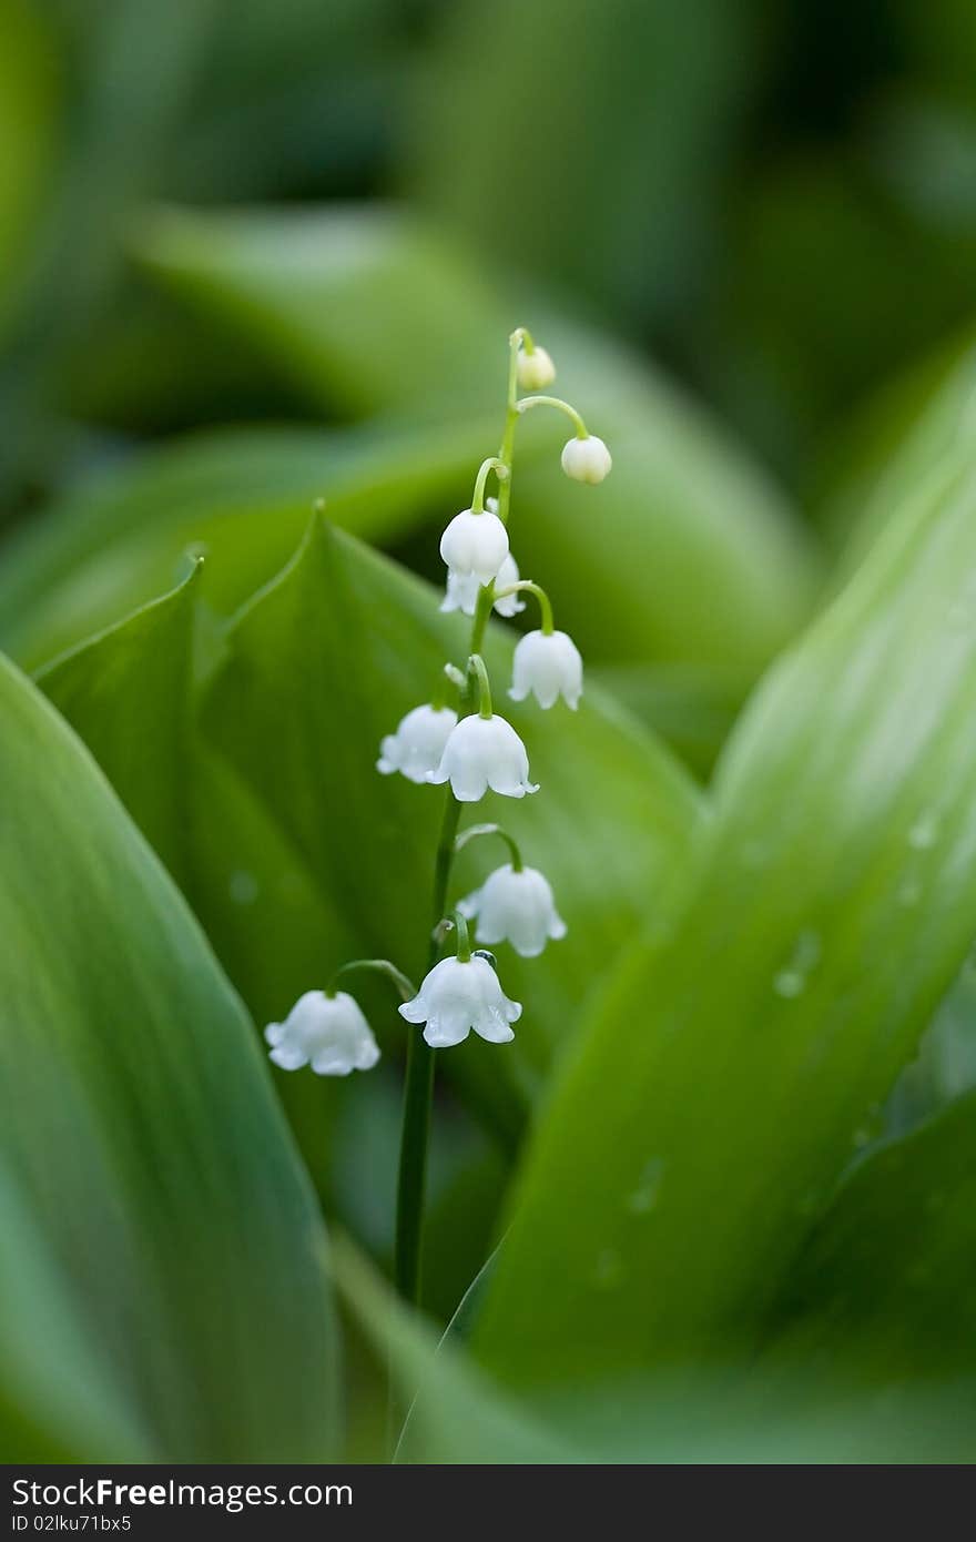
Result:
<svg viewBox="0 0 976 1542"><path fill-rule="evenodd" d="M367 540L392 540L464 495L470 423L370 430L228 429L150 450L69 492L5 549L0 638L26 665L168 589L185 549L230 614L288 560L316 500Z"/></svg>

